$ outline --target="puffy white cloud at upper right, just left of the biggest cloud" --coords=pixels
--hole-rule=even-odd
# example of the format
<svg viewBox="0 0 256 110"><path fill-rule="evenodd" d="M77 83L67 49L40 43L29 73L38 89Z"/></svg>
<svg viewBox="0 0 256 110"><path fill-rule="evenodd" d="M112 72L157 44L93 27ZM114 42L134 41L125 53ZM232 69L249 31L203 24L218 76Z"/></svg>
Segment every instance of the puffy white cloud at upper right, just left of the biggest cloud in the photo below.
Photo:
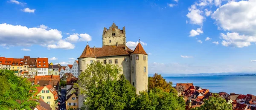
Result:
<svg viewBox="0 0 256 110"><path fill-rule="evenodd" d="M195 5L192 5L186 17L189 18L191 24L203 25L204 17L201 14L203 14L203 11L197 9Z"/></svg>

